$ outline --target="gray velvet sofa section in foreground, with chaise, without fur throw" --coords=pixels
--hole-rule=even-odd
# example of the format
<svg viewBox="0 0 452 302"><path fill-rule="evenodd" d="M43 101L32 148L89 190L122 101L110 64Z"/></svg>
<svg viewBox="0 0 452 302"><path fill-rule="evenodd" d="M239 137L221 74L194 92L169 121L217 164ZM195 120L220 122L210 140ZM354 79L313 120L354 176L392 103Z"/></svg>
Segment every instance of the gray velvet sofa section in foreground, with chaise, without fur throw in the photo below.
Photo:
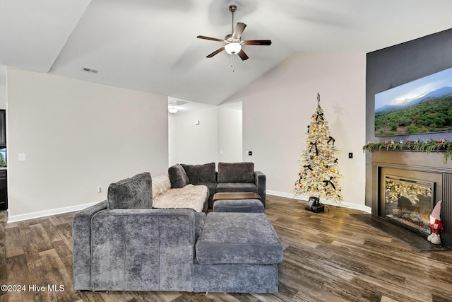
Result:
<svg viewBox="0 0 452 302"><path fill-rule="evenodd" d="M152 178L109 186L73 216L73 287L275 293L283 248L263 213L152 209Z"/></svg>

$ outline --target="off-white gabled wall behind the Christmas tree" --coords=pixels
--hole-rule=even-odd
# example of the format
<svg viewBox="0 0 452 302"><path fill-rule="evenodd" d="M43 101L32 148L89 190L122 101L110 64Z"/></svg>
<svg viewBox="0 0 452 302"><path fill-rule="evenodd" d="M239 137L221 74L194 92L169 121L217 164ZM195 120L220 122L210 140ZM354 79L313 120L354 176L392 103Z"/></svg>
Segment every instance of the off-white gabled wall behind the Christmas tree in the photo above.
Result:
<svg viewBox="0 0 452 302"><path fill-rule="evenodd" d="M243 102L244 161L266 174L270 193L293 195L319 92L340 150L344 202L364 205L365 81L364 53L297 52L230 98Z"/></svg>

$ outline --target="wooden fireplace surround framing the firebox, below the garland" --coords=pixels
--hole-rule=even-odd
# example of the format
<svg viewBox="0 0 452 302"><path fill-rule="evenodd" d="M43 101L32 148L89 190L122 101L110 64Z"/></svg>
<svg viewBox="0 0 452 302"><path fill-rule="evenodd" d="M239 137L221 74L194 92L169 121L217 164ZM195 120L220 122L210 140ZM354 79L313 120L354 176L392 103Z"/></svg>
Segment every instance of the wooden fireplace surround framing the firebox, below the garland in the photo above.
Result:
<svg viewBox="0 0 452 302"><path fill-rule="evenodd" d="M442 200L441 243L452 248L452 161L444 164L444 153L381 149L371 153L372 166L372 215L381 216L382 181L385 173L399 173L401 176L431 180L436 184L434 202Z"/></svg>

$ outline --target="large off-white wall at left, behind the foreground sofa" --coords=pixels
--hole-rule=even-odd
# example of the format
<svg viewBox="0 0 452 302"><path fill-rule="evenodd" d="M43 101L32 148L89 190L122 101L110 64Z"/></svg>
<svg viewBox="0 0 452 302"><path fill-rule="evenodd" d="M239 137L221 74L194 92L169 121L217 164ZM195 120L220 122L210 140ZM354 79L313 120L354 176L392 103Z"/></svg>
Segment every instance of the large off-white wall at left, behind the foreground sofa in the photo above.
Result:
<svg viewBox="0 0 452 302"><path fill-rule="evenodd" d="M166 96L11 68L7 83L10 219L102 201L111 182L167 171Z"/></svg>

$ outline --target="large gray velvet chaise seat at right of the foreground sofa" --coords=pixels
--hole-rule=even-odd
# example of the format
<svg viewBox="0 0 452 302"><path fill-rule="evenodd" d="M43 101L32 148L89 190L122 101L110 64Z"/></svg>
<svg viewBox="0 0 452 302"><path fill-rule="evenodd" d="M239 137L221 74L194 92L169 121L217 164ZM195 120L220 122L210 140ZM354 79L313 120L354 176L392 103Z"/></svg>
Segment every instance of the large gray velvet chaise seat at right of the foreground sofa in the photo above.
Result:
<svg viewBox="0 0 452 302"><path fill-rule="evenodd" d="M193 291L278 293L283 246L258 213L209 213L196 242Z"/></svg>

